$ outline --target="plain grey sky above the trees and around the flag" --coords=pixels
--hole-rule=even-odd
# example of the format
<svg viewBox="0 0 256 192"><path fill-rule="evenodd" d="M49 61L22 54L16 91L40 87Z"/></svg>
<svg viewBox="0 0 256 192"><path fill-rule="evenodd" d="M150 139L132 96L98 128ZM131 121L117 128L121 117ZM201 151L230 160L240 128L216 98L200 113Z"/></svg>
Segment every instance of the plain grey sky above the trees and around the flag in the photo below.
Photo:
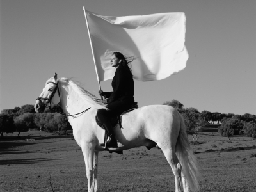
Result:
<svg viewBox="0 0 256 192"><path fill-rule="evenodd" d="M0 0L0 111L35 104L49 77L98 95L86 10L108 16L186 14L187 67L134 80L138 106L179 100L198 111L256 115L256 1ZM101 82L111 91L111 80Z"/></svg>

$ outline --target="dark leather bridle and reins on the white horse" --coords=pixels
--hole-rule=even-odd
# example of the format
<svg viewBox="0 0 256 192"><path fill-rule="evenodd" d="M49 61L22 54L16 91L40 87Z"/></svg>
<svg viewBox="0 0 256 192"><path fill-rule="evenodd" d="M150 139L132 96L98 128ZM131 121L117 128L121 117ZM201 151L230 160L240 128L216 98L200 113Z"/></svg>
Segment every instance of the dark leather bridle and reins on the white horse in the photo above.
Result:
<svg viewBox="0 0 256 192"><path fill-rule="evenodd" d="M85 113L86 111L88 111L90 108L88 108L88 109L86 109L86 110L84 110L84 111L82 111L81 113L76 113L76 114L73 114L73 115L69 115L69 114L67 114L67 113L62 113L62 112L60 112L60 111L56 111L56 110L54 110L54 109L52 109L52 98L54 97L54 95L55 95L55 93L56 93L56 91L58 90L58 94L59 94L59 98L61 99L61 97L60 97L60 89L59 89L59 80L57 80L57 83L54 83L54 82L52 82L52 81L49 81L47 84L49 84L49 83L52 83L52 84L55 84L56 86L55 86L55 88L54 88L54 90L53 90L53 92L52 92L52 94L51 94L51 96L49 97L49 98L43 98L43 97L38 97L36 100L39 100L39 102L41 102L42 104L44 104L45 105L45 108L47 108L47 103L49 103L50 104L50 106L49 106L49 109L51 109L52 111L54 111L54 112L57 112L57 113L60 113L61 115L66 115L66 116L73 116L73 115L79 115L79 114L81 114L81 113ZM44 102L42 102L42 100L46 100L46 102L44 103ZM60 102L59 102L60 103ZM58 103L58 104L59 104Z"/></svg>

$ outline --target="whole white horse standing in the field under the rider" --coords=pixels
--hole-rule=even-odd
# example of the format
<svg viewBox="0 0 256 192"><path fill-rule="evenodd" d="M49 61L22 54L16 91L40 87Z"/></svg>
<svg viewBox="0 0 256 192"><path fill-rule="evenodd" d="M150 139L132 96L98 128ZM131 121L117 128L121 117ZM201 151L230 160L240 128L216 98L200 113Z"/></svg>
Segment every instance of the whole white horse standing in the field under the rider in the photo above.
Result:
<svg viewBox="0 0 256 192"><path fill-rule="evenodd" d="M104 150L100 143L104 141L105 131L95 122L95 115L97 109L106 109L106 104L70 79L58 79L55 73L46 81L43 92L36 100L35 110L42 113L45 107L57 104L68 115L90 108L67 118L83 151L88 191L97 191L98 154ZM118 125L114 128L118 148L109 148L109 151L157 144L175 175L175 192L182 191L182 186L186 192L200 191L196 158L189 147L184 120L175 108L165 105L138 108L122 117L122 127L120 129Z"/></svg>

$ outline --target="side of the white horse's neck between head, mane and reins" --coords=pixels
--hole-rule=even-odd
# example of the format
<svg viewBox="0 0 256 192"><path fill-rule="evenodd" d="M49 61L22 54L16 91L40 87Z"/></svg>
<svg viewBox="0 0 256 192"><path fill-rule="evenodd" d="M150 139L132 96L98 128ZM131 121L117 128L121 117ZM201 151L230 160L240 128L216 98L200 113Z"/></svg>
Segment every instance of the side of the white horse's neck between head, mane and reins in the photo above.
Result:
<svg viewBox="0 0 256 192"><path fill-rule="evenodd" d="M90 108L72 86L63 84L61 86L61 108L67 114L73 115Z"/></svg>

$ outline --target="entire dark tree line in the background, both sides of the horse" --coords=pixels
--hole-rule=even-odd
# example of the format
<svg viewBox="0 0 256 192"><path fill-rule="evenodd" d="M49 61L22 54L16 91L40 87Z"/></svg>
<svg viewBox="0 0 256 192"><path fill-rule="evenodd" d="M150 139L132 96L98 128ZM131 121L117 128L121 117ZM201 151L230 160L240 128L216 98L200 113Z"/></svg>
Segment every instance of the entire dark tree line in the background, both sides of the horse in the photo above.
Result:
<svg viewBox="0 0 256 192"><path fill-rule="evenodd" d="M233 113L211 113L210 111L202 111L196 108L184 108L184 105L178 100L166 101L164 105L172 106L177 109L184 117L188 134L193 136L193 140L197 141L199 131L207 127L209 124L218 124L218 132L222 136L230 138L233 135L244 132L247 136L256 138L256 116L245 113L244 115L235 115ZM55 107L62 111L60 107ZM221 124L220 124L221 123ZM0 134L4 133L26 132L29 128L52 132L66 131L72 129L66 116L58 113L52 113L49 109L44 113L35 113L34 106L26 104L24 106L15 107L14 109L4 109L0 114Z"/></svg>

